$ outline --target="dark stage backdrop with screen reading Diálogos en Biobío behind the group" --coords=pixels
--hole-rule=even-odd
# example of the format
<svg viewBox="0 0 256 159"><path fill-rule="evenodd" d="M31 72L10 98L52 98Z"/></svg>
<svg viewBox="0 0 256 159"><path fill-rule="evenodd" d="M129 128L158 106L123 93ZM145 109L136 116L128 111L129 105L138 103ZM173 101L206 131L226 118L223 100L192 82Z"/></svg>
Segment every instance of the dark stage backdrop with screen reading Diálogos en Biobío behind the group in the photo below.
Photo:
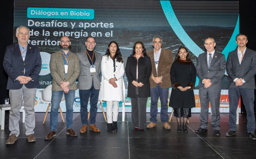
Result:
<svg viewBox="0 0 256 159"><path fill-rule="evenodd" d="M237 1L61 2L15 1L15 8L13 8L13 2L5 2L5 8L9 7L10 13L8 15L4 13L6 15L4 21L8 23L2 30L5 36L1 38L3 77L0 103L4 103L4 98L8 97L8 91L5 89L7 76L3 71L2 63L6 46L12 44L13 39L16 42L13 26L15 29L18 25L28 26L32 33L30 43L37 45L40 49L44 66L40 73L41 86L38 91L51 84L49 57L50 54L59 50L58 40L62 33L71 37L73 52L84 49L85 38L90 35L95 36L97 42L95 49L101 54L104 54L108 43L115 40L121 46L124 59L131 54L135 41L142 41L146 49L151 50L152 37L161 35L164 40L163 48L172 50L175 56L179 46L185 45L192 53L192 60L196 64L198 55L204 51L203 39L208 36L215 38L216 50L225 54L227 58L228 52L236 46L233 36L239 32L240 26L240 32L249 35L247 46L255 50L253 48L255 46L251 43L256 36L250 26L254 23L251 19L255 11L248 9L252 6L248 1L239 3ZM222 88L224 95L227 94L225 82L224 79ZM224 101L226 97L223 96ZM39 98L40 93L37 93L35 109L44 112L46 107L44 109L38 107ZM79 108L79 96L75 103Z"/></svg>

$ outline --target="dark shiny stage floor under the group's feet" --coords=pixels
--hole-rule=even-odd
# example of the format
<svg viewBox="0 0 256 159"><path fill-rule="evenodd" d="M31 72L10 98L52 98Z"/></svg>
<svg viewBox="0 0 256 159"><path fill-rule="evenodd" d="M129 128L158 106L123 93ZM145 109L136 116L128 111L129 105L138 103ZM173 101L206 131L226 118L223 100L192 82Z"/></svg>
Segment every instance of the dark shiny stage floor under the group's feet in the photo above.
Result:
<svg viewBox="0 0 256 159"><path fill-rule="evenodd" d="M121 121L122 114L119 113L118 131L110 133L102 113L98 113L96 125L101 129L100 133L87 131L85 134L79 134L80 114L74 113L73 129L78 137L71 137L66 135L66 123L59 114L57 136L50 141L44 140L49 133L50 114L45 124L42 124L43 118L44 113L36 113L35 143L27 142L21 118L18 140L13 145L6 145L10 133L7 112L5 130L0 131L0 158L256 158L256 141L248 137L245 114L240 114L234 137L225 136L229 129L228 114L221 114L220 137L214 136L210 121L206 133L195 133L200 124L199 113L193 113L189 118L188 133L177 133L175 117L170 122L172 130L163 129L162 123L158 122L155 128L135 131L131 113L125 114L125 122ZM147 113L147 123L149 120Z"/></svg>

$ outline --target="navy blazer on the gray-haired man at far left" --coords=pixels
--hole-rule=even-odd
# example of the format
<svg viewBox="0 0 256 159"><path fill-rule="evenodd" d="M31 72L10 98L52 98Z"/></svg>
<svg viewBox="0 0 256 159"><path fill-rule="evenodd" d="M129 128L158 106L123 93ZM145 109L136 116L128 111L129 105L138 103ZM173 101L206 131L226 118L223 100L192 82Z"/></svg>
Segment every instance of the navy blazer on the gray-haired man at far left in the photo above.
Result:
<svg viewBox="0 0 256 159"><path fill-rule="evenodd" d="M41 71L41 56L38 47L28 44L26 58L25 61L23 61L18 43L7 46L3 66L8 74L8 90L22 88L23 84L20 84L19 81L16 80L19 75L32 78L32 80L25 85L27 88L38 88L40 86L38 75Z"/></svg>

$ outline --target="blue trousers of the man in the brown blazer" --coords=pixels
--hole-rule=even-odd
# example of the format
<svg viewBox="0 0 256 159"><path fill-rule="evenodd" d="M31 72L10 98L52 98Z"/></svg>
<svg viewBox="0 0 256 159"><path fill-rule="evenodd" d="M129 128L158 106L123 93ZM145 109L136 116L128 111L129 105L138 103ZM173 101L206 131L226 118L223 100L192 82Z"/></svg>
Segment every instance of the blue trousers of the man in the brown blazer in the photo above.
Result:
<svg viewBox="0 0 256 159"><path fill-rule="evenodd" d="M157 123L157 104L158 99L160 97L161 101L161 112L160 112L160 119L162 123L168 122L169 116L167 114L168 112L168 88L161 88L159 84L157 84L157 87L150 88L150 94L151 94L151 108L150 108L150 121L153 123Z"/></svg>

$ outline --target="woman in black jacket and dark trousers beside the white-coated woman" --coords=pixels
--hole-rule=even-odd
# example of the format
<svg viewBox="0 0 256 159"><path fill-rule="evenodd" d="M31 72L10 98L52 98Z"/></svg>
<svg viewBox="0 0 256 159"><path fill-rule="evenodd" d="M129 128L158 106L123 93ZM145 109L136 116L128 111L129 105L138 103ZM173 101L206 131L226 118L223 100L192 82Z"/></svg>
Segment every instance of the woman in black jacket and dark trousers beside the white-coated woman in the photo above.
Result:
<svg viewBox="0 0 256 159"><path fill-rule="evenodd" d="M128 78L127 97L132 103L132 122L135 130L146 128L146 102L150 97L151 60L142 42L137 41L127 59L125 73Z"/></svg>

